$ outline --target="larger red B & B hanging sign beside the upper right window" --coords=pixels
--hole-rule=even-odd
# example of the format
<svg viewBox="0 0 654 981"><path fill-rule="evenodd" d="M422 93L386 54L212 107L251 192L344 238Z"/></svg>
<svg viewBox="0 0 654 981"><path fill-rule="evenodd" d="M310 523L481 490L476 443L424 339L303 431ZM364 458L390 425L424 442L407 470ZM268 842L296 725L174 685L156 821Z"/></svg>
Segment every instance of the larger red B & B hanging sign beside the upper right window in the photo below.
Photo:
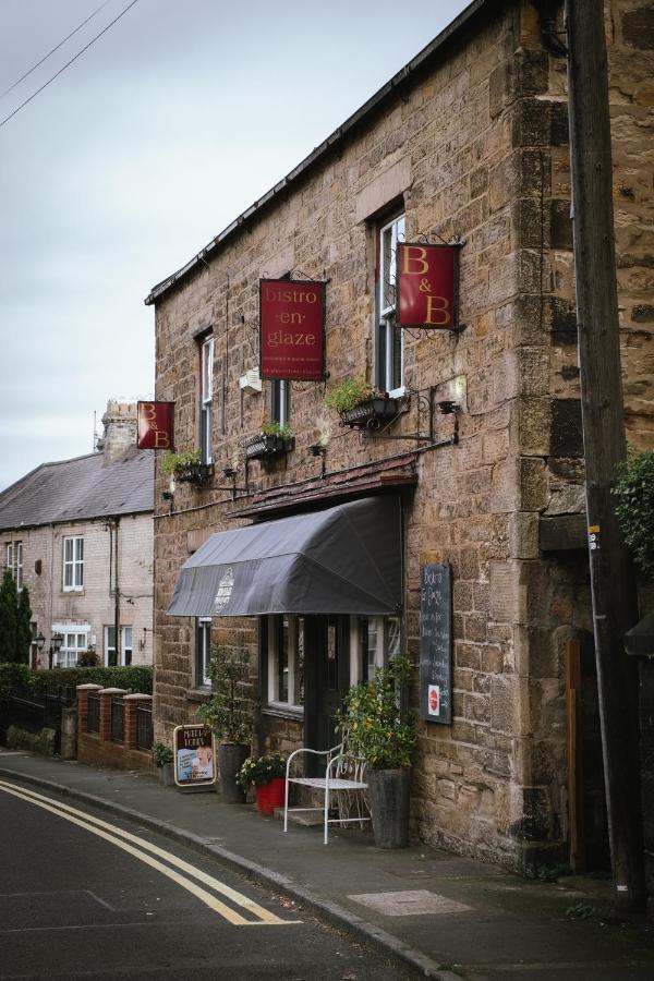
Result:
<svg viewBox="0 0 654 981"><path fill-rule="evenodd" d="M458 245L398 243L398 325L457 330Z"/></svg>

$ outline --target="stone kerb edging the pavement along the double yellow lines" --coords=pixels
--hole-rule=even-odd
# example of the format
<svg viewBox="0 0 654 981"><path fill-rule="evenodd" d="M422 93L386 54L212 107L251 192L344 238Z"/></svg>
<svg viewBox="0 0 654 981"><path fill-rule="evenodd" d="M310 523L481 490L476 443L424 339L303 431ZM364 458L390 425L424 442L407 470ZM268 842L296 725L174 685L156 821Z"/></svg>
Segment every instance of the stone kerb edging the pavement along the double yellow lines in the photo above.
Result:
<svg viewBox="0 0 654 981"><path fill-rule="evenodd" d="M411 967L419 971L423 978L433 978L435 981L464 981L462 974L444 969L436 961L432 960L425 954L421 954L414 947L409 946L380 927L375 927L362 920L360 917L353 916L349 910L338 906L329 899L322 899L318 896L305 889L286 875L275 872L272 869L266 869L257 862L235 855L220 845L207 844L203 838L194 835L192 832L183 831L172 824L162 824L148 814L135 811L133 808L126 808L123 804L108 801L102 797L96 797L94 794L86 794L83 790L75 790L64 784L58 784L55 780L37 777L33 774L23 773L15 770L5 770L0 765L0 776L5 779L15 779L25 784L32 784L41 789L51 790L55 794L61 794L72 800L78 800L84 803L93 804L99 810L107 811L120 818L128 818L131 821L137 821L145 827L157 832L164 837L170 838L181 845L192 848L197 852L208 852L213 858L219 859L228 868L245 873L245 875L254 882L274 887L277 892L283 893L289 899L300 900L305 907L308 907L316 916L327 920L331 925L344 930L358 940L364 940L370 945L376 947L382 954L393 957L404 967Z"/></svg>

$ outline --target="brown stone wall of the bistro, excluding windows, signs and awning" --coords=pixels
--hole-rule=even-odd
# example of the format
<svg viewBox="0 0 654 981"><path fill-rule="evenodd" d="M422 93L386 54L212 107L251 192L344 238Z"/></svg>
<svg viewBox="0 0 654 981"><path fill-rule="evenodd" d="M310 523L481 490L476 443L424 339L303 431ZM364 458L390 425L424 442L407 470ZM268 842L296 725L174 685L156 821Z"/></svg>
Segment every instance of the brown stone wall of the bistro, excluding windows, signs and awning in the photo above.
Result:
<svg viewBox="0 0 654 981"><path fill-rule="evenodd" d="M616 184L616 227L630 433L652 425L651 208L646 141L651 50L629 47L626 28L644 3L607 5L618 168L630 167L633 197ZM644 36L644 35L643 35ZM631 40L630 40L631 38ZM461 335L405 336L409 412L389 435L424 432L421 395L461 405L459 444L419 453L417 486L404 504L405 616L419 650L420 567L452 566L455 693L451 727L421 724L412 787L415 833L508 864L558 855L566 833L566 639L590 628L586 564L548 558L538 520L581 510L583 470L569 223L564 65L546 55L530 3L497 4L445 46L354 135L291 182L206 264L157 303L157 398L175 402L178 449L197 446L196 338L215 336L215 460L239 463L242 444L269 417L269 390L243 396L238 379L257 364L259 276L290 269L327 278L328 387L349 375L374 378L373 221L403 201L407 238L464 239ZM640 134L640 136L639 136ZM651 140L650 150L651 153ZM623 165L625 161L625 165ZM623 264L628 257L628 264ZM635 386L635 387L633 387ZM326 439L328 472L383 460L408 446L341 429L323 386L292 386L295 448L278 464L250 467L264 492L319 475L308 446ZM438 416L436 438L452 433ZM413 445L414 446L414 445ZM413 447L412 447L413 448ZM211 531L238 526L229 492L178 487L174 513L159 502L155 535L155 716L165 738L193 717L193 627L165 610L187 555ZM247 504L249 498L244 498ZM234 517L235 512L235 517ZM252 651L255 625L220 631ZM301 739L295 722L264 718L266 744Z"/></svg>

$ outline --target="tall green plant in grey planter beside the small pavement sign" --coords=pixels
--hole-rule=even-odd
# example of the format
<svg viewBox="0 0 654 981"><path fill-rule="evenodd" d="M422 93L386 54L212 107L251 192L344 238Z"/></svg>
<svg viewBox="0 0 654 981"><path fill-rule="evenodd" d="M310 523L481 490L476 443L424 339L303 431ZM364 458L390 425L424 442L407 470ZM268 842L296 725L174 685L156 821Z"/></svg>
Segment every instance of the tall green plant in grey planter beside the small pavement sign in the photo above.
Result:
<svg viewBox="0 0 654 981"><path fill-rule="evenodd" d="M237 776L250 755L250 740L254 728L254 708L242 693L250 658L246 651L229 647L211 650L209 678L213 693L199 706L197 714L219 740L219 786L225 803L243 803L245 796L237 784Z"/></svg>

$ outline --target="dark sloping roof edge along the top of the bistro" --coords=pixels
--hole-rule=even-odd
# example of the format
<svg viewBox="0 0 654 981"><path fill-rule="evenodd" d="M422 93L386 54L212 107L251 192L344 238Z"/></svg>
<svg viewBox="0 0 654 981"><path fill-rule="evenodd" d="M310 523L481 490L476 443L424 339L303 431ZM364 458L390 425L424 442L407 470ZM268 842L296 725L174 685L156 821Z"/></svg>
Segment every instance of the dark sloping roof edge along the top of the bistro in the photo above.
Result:
<svg viewBox="0 0 654 981"><path fill-rule="evenodd" d="M404 68L400 69L392 78L383 85L374 96L372 96L367 102L364 102L363 106L356 110L349 119L346 120L342 125L335 130L331 135L329 135L319 146L316 146L312 153L304 158L293 170L290 171L284 178L281 179L274 187L271 187L263 197L259 197L254 202L249 208L246 208L238 218L235 218L231 225L228 225L226 229L223 229L219 234L216 235L215 239L205 245L204 249L194 255L192 259L190 259L184 266L173 272L171 276L168 276L166 279L161 280L161 282L157 283L157 286L153 287L148 295L145 298L146 306L149 306L153 303L156 303L165 293L171 290L178 282L191 272L196 266L199 264L206 264L207 257L215 252L218 246L222 245L228 239L231 239L234 234L241 231L243 226L247 228L247 223L252 222L254 217L257 217L258 214L267 207L270 202L272 202L280 194L287 192L290 184L296 181L300 177L303 177L307 171L313 169L317 164L322 162L323 157L332 150L335 147L339 146L347 140L350 134L359 126L361 123L368 119L374 112L378 111L379 108L387 101L389 98L395 98L398 90L402 90L402 86L407 86L421 71L424 71L428 64L433 61L436 55L441 53L441 49L444 46L449 43L456 35L458 35L463 27L465 27L482 9L493 10L496 7L496 3L493 3L492 0L473 0L461 13L459 16L455 17L455 20L445 27L440 34L436 35L433 41L431 41L422 51L420 51L415 58L412 58Z"/></svg>

